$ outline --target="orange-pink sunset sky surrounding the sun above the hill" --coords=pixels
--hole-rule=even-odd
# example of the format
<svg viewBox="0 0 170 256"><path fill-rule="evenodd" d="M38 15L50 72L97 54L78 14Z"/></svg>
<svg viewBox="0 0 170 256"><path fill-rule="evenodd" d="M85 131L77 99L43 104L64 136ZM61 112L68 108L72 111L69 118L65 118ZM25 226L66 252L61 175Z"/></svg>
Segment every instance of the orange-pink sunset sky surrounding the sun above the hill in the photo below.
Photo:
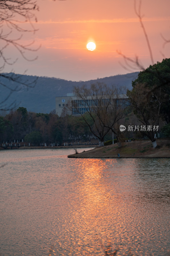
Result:
<svg viewBox="0 0 170 256"><path fill-rule="evenodd" d="M72 81L130 73L121 66L125 64L117 50L130 58L139 56L145 68L151 64L134 0L38 0L38 5L34 24L38 31L23 37L24 43L35 38L34 47L41 44L38 52L27 53L38 59L28 62L19 57L4 71L27 70L28 75ZM160 35L170 39L170 1L142 0L141 13L154 62L170 58L170 43L163 47ZM94 51L87 50L89 41L96 44Z"/></svg>

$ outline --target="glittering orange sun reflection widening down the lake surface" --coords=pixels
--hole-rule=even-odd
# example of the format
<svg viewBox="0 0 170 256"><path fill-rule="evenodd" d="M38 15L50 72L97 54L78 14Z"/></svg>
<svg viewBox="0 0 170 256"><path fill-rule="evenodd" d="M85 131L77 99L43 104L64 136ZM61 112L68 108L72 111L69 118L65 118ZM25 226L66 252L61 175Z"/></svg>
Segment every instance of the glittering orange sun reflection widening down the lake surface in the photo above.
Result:
<svg viewBox="0 0 170 256"><path fill-rule="evenodd" d="M63 248L59 255L145 255L147 249L141 243L156 244L154 233L152 237L148 233L152 228L144 219L144 209L140 209L143 216L138 216L138 209L118 192L121 188L115 181L121 175L125 179L132 171L126 166L124 175L124 167L114 159L81 159L76 163L74 171L78 178L69 188L63 235L56 233ZM121 181L123 188L128 187L128 178ZM111 248L116 250L111 252Z"/></svg>

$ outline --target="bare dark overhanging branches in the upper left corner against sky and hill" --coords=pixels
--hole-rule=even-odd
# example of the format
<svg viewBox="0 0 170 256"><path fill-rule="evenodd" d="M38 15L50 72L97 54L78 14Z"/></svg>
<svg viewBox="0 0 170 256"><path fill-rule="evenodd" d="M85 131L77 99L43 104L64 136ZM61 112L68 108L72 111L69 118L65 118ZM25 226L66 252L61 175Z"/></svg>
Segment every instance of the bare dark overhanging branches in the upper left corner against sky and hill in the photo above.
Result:
<svg viewBox="0 0 170 256"><path fill-rule="evenodd" d="M23 78L22 75L15 73L3 73L6 65L14 65L18 58L12 59L9 56L9 49L18 52L25 60L33 61L33 58L27 57L27 53L36 52L38 48L34 48L34 40L29 44L22 44L24 33L35 34L36 28L33 21L37 22L35 12L39 10L36 0L1 0L0 1L0 86L6 88L4 100L0 102L0 110L11 110L16 108L17 103L12 101L10 106L6 105L6 100L11 96L12 92L19 91L23 86L34 87L37 77L31 82ZM25 26L26 24L26 26ZM29 28L28 28L29 24ZM6 85L6 80L11 81L11 86Z"/></svg>

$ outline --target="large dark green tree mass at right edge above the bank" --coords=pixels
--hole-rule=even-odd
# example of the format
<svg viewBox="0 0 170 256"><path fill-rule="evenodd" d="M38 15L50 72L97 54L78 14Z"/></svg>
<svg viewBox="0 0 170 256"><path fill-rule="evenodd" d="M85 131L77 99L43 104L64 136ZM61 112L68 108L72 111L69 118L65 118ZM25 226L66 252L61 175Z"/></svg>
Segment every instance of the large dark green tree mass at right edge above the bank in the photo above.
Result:
<svg viewBox="0 0 170 256"><path fill-rule="evenodd" d="M130 104L138 120L156 127L160 120L170 121L170 59L164 59L141 71L127 92ZM156 147L155 130L142 131Z"/></svg>

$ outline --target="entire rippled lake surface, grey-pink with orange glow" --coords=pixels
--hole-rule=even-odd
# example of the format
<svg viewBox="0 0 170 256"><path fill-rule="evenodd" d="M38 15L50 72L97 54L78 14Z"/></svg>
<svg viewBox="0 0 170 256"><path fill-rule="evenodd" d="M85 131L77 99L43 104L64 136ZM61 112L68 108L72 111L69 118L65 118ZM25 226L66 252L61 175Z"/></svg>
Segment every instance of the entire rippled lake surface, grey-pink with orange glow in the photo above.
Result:
<svg viewBox="0 0 170 256"><path fill-rule="evenodd" d="M170 255L170 159L72 153L0 152L0 255Z"/></svg>

